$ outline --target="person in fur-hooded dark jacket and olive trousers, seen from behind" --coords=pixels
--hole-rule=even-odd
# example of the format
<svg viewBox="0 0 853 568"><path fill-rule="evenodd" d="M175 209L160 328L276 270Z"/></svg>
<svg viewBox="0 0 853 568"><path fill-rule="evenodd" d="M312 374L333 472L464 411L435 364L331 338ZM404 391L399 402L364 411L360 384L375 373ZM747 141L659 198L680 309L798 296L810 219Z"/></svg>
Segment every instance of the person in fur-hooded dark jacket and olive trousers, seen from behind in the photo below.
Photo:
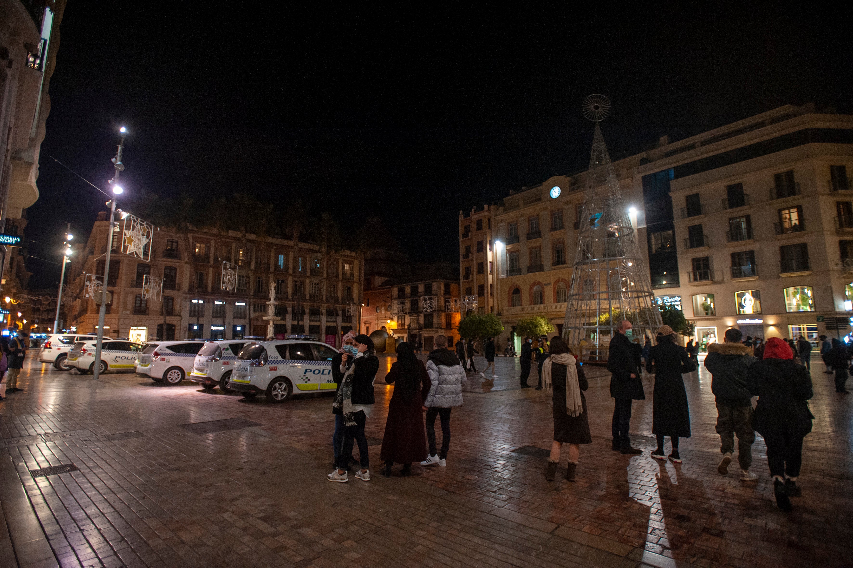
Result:
<svg viewBox="0 0 853 568"><path fill-rule="evenodd" d="M720 435L722 460L717 465L720 475L728 474L728 464L734 454L734 435L738 436L738 463L740 480L755 481L758 476L750 471L752 465L752 395L746 388L746 372L757 359L751 349L740 344L743 333L732 327L723 335L723 343L708 345L705 368L711 373L711 392L717 403L717 434Z"/></svg>

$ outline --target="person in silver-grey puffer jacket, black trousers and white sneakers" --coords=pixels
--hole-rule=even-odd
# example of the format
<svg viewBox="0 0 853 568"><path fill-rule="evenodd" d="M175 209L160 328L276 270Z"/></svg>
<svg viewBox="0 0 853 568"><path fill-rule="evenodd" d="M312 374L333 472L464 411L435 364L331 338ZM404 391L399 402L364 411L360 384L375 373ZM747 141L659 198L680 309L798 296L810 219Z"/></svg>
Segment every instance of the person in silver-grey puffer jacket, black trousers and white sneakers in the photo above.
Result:
<svg viewBox="0 0 853 568"><path fill-rule="evenodd" d="M429 455L421 466L440 467L447 465L447 450L450 448L450 410L462 405L462 385L467 382L465 369L453 351L447 349L447 337L436 335L435 350L427 358L427 374L431 381L427 400L427 442ZM435 418L441 418L441 453L435 449Z"/></svg>

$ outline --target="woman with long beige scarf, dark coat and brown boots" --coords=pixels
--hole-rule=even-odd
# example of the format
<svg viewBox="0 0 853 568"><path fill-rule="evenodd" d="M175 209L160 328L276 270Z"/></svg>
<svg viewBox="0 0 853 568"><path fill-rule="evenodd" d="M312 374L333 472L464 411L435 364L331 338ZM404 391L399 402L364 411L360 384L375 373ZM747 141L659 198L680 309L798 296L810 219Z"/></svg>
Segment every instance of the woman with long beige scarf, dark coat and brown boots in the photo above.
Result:
<svg viewBox="0 0 853 568"><path fill-rule="evenodd" d="M583 391L589 388L583 367L577 362L566 339L559 335L551 339L551 356L543 362L542 378L545 388L551 391L551 411L554 414L554 442L548 458L545 478L554 481L557 464L560 462L560 447L569 444L569 463L566 479L575 480L577 461L582 443L592 443L589 433L586 397Z"/></svg>

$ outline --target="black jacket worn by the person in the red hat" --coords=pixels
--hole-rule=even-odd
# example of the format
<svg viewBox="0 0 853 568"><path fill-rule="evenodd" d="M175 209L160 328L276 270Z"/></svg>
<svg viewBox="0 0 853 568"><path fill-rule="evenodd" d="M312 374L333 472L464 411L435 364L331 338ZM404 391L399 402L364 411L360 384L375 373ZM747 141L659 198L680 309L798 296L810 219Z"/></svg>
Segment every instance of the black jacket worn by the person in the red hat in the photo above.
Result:
<svg viewBox="0 0 853 568"><path fill-rule="evenodd" d="M758 397L752 427L762 436L786 434L803 438L814 418L806 401L814 396L811 377L791 359L765 359L751 365L746 385Z"/></svg>

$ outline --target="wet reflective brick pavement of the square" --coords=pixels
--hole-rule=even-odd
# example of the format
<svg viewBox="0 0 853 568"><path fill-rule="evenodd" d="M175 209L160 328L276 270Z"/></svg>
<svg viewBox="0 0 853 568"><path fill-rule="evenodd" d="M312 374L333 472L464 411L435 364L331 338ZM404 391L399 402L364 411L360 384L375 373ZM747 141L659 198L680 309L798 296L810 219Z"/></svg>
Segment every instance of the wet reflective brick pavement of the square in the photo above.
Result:
<svg viewBox="0 0 853 568"><path fill-rule="evenodd" d="M775 508L760 438L757 484L717 474L704 369L686 375L693 438L673 465L609 449L608 376L588 368L594 443L582 447L576 484L562 472L546 482L543 457L513 451L548 448L552 424L547 393L520 390L518 362L504 357L494 384L472 377L453 411L448 467L415 465L412 478L325 481L328 395L272 405L130 374L96 383L33 362L25 391L0 403L0 457L11 456L62 566L851 565L851 400L818 367L804 496L790 514ZM377 380L367 426L376 469L391 392ZM651 396L634 406L643 449L654 447L651 409ZM181 427L233 418L261 426ZM79 471L27 471L67 463Z"/></svg>

